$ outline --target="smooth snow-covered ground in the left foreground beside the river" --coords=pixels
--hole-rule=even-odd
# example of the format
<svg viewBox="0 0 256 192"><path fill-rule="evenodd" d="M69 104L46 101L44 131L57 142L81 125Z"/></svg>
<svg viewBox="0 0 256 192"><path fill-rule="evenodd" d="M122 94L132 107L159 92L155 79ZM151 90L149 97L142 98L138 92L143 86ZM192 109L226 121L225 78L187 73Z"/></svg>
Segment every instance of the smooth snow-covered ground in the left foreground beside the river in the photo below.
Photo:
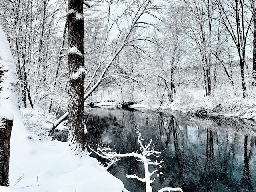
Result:
<svg viewBox="0 0 256 192"><path fill-rule="evenodd" d="M38 126L36 110L23 112ZM29 117L29 118L28 118ZM31 123L31 122L30 122ZM35 127L36 129L36 127ZM40 125L38 126L40 129ZM30 134L15 112L10 149L10 186L0 192L122 192L123 183L89 156L76 156L67 143ZM20 180L19 180L20 178ZM126 191L126 190L125 190Z"/></svg>

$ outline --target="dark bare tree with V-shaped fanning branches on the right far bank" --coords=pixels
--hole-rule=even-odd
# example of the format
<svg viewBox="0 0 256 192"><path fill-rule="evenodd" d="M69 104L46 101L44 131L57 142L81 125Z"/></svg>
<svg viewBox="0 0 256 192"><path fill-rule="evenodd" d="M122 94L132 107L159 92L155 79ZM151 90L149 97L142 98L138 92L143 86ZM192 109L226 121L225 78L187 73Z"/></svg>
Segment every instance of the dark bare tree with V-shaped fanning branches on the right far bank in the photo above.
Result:
<svg viewBox="0 0 256 192"><path fill-rule="evenodd" d="M218 16L215 20L223 24L231 36L240 61L243 98L246 97L246 80L244 65L246 59L246 43L250 27L254 22L255 10L250 10L250 1L247 0L215 0ZM250 11L252 14L247 14Z"/></svg>

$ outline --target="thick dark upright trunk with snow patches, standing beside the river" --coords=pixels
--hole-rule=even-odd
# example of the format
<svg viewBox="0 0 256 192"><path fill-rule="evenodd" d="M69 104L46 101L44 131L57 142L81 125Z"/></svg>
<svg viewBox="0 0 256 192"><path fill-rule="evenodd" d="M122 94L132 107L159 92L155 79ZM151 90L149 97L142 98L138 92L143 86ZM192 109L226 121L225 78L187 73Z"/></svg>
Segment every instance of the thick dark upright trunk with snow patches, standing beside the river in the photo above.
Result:
<svg viewBox="0 0 256 192"><path fill-rule="evenodd" d="M68 146L75 154L86 152L84 117L84 18L83 0L68 3Z"/></svg>

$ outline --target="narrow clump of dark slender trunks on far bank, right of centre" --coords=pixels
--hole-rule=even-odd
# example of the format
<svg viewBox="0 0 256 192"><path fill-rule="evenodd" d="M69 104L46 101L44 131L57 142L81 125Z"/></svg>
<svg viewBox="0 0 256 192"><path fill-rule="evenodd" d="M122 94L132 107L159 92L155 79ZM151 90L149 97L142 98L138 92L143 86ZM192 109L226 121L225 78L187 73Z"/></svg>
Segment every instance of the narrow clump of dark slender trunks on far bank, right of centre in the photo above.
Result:
<svg viewBox="0 0 256 192"><path fill-rule="evenodd" d="M214 2L212 0L188 0L186 1L189 19L186 21L187 35L194 41L194 48L198 54L198 60L202 66L203 86L206 96L212 93L211 67L212 67L212 26L214 14ZM192 14L191 14L192 13Z"/></svg>

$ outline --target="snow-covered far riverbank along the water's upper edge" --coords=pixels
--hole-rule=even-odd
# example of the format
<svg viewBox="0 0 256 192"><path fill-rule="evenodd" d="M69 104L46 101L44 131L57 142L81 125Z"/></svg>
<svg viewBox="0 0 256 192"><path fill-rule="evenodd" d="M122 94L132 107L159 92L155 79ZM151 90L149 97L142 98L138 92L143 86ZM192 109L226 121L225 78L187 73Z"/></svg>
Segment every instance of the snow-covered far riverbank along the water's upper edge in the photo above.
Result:
<svg viewBox="0 0 256 192"><path fill-rule="evenodd" d="M100 101L95 106L117 106L118 101L105 102ZM184 95L178 96L172 103L152 102L143 100L131 108L154 108L176 110L186 113L214 115L214 116L230 116L235 118L245 118L256 120L256 99L252 97L240 98L228 95L213 95L213 96L193 96Z"/></svg>

